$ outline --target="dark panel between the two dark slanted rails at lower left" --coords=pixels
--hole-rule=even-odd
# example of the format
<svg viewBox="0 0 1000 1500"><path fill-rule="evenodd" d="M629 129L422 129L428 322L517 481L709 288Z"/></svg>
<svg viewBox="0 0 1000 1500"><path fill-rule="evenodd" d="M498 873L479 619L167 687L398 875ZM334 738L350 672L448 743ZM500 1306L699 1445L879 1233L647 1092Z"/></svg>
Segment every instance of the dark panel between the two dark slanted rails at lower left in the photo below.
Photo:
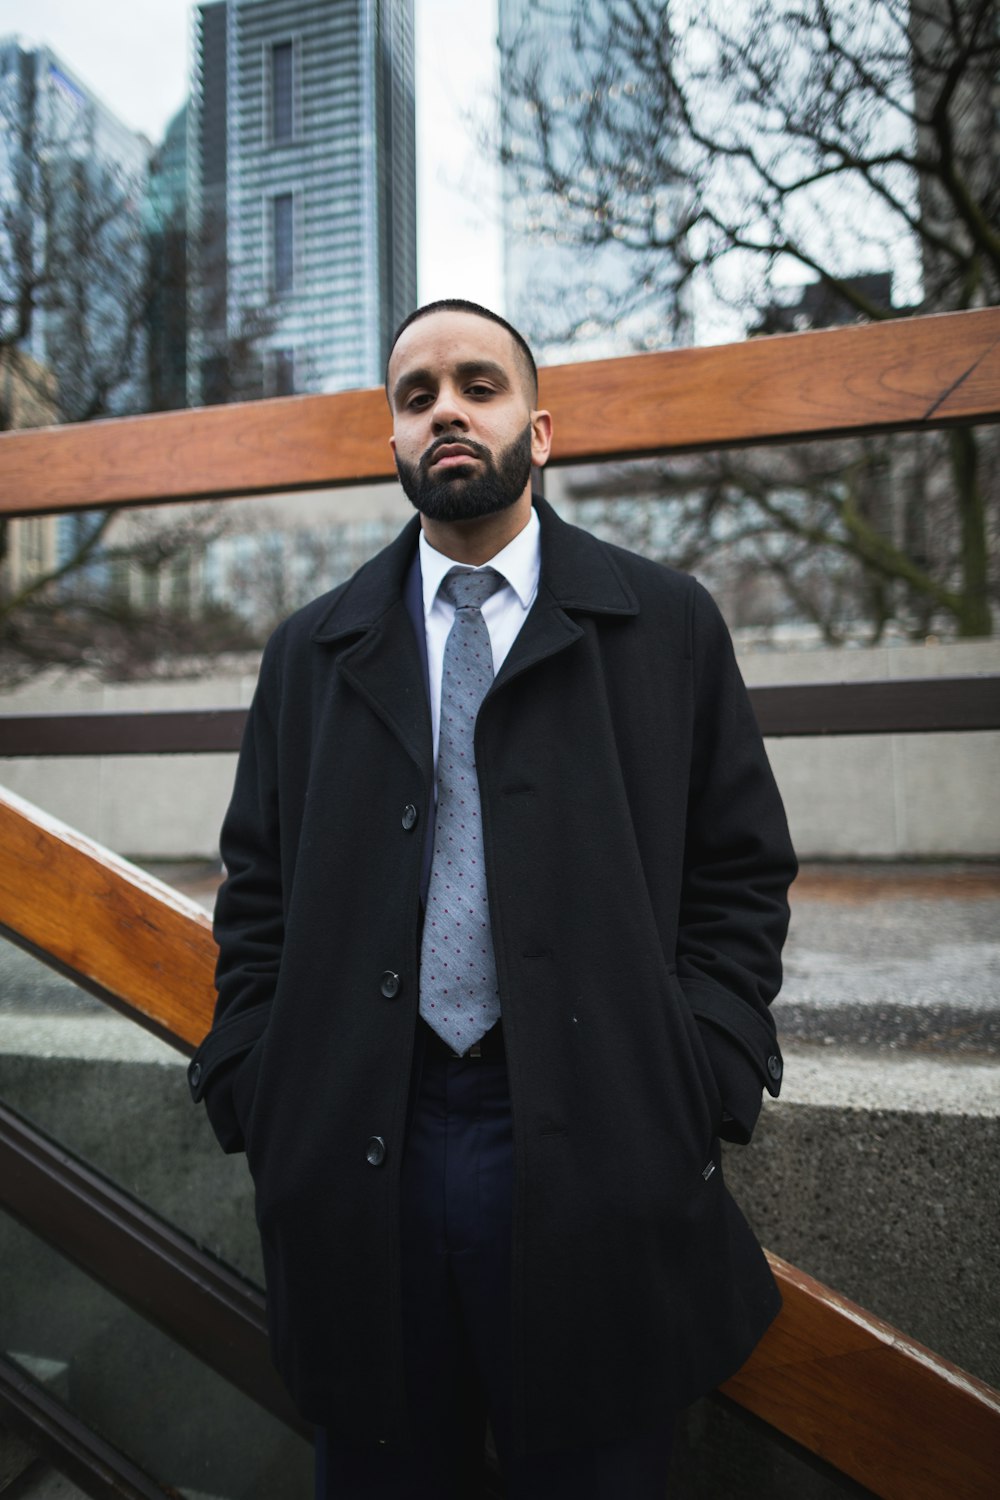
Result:
<svg viewBox="0 0 1000 1500"><path fill-rule="evenodd" d="M0 1348L190 1500L312 1492L312 1448L0 1214Z"/></svg>

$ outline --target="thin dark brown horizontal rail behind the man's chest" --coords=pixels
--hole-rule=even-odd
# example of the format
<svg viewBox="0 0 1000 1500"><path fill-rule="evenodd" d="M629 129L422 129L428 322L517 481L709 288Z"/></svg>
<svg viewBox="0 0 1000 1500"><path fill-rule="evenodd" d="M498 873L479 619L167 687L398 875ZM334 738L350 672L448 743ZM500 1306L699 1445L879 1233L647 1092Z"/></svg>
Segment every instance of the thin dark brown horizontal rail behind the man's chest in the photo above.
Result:
<svg viewBox="0 0 1000 1500"><path fill-rule="evenodd" d="M765 735L885 735L1000 729L1000 674L751 687ZM217 754L240 748L246 708L0 714L0 759Z"/></svg>

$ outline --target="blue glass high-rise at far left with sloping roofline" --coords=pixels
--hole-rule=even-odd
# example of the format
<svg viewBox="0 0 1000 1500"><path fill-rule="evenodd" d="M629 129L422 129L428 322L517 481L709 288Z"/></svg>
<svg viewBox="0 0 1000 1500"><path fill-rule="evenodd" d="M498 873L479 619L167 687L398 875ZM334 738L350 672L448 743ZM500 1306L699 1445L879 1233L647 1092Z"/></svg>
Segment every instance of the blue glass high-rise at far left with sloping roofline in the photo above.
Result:
<svg viewBox="0 0 1000 1500"><path fill-rule="evenodd" d="M0 40L0 318L61 420L145 404L150 142L48 46Z"/></svg>

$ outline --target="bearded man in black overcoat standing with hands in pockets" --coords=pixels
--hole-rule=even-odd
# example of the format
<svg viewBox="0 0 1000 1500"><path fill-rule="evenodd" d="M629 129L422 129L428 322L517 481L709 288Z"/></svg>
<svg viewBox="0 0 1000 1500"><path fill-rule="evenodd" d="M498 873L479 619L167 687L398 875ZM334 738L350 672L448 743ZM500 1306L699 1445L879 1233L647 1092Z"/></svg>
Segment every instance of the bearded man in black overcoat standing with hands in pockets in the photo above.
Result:
<svg viewBox="0 0 1000 1500"><path fill-rule="evenodd" d="M723 1185L781 1059L795 874L721 618L561 522L516 330L399 330L420 512L264 654L192 1065L246 1149L321 1496L664 1492L778 1308Z"/></svg>

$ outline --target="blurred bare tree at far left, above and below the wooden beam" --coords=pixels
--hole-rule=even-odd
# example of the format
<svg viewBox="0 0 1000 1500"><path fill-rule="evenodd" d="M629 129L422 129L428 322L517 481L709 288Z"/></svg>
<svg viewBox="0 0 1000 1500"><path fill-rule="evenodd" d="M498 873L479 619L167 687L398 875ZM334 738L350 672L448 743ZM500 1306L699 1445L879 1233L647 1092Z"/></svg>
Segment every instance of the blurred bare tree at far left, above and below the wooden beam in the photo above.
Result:
<svg viewBox="0 0 1000 1500"><path fill-rule="evenodd" d="M100 153L85 108L39 100L33 62L0 68L0 432L177 404L177 372L160 388L148 356L154 336L160 360L183 348L186 316L183 208L159 212ZM262 332L244 318L225 351L228 398L261 393L244 372ZM226 530L222 507L0 519L0 675L246 646L238 616L186 586Z"/></svg>

